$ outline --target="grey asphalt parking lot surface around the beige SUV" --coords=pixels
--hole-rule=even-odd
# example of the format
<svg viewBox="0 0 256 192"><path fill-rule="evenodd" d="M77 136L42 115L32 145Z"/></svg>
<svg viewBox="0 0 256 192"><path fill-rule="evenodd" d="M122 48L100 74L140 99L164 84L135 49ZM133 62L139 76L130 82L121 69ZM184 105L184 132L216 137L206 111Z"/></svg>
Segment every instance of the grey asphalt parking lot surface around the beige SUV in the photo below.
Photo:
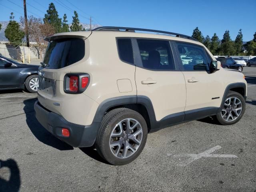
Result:
<svg viewBox="0 0 256 192"><path fill-rule="evenodd" d="M125 166L93 148L72 148L34 117L36 94L0 92L0 192L256 191L256 67L245 67L246 112L220 126L211 118L148 135Z"/></svg>

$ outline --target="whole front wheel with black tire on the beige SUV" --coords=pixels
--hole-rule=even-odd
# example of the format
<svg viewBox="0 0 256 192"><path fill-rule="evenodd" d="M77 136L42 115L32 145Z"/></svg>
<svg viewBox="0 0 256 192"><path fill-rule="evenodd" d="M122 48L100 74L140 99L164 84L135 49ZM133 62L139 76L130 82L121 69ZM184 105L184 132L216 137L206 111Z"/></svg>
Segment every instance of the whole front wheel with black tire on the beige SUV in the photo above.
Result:
<svg viewBox="0 0 256 192"><path fill-rule="evenodd" d="M221 111L216 115L222 125L232 125L240 121L245 112L244 97L238 92L229 91Z"/></svg>

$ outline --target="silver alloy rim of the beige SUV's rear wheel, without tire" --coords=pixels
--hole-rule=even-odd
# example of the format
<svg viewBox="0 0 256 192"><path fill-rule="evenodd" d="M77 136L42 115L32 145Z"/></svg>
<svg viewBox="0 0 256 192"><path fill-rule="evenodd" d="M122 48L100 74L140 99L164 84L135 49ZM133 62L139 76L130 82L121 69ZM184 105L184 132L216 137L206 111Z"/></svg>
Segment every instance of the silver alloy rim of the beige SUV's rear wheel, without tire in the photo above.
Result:
<svg viewBox="0 0 256 192"><path fill-rule="evenodd" d="M142 142L142 127L132 118L126 118L116 124L111 132L109 146L112 154L118 158L132 156Z"/></svg>

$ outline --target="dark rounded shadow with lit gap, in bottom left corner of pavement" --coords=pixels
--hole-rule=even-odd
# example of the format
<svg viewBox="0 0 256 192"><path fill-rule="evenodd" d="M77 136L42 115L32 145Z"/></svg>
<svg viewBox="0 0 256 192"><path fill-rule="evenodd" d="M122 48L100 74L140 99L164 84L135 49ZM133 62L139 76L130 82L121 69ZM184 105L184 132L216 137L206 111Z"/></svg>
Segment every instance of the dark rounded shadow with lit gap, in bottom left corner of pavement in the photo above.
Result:
<svg viewBox="0 0 256 192"><path fill-rule="evenodd" d="M10 176L9 180L2 178L6 170L1 170L1 168L9 168ZM2 177L1 177L2 176ZM6 178L6 176L5 176ZM8 159L6 161L0 160L0 192L18 192L20 189L20 170L15 160Z"/></svg>

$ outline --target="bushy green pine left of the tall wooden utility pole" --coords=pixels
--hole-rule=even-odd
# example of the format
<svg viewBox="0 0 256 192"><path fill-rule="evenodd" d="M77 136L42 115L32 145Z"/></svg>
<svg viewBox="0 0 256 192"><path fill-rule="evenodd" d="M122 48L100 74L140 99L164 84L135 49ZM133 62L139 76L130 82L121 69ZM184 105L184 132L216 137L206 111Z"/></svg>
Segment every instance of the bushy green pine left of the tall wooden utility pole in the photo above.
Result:
<svg viewBox="0 0 256 192"><path fill-rule="evenodd" d="M20 25L18 24L18 22L14 21L13 13L11 13L10 22L6 27L4 34L10 42L15 43L21 43L22 39L25 36L25 33L22 30L20 30Z"/></svg>

